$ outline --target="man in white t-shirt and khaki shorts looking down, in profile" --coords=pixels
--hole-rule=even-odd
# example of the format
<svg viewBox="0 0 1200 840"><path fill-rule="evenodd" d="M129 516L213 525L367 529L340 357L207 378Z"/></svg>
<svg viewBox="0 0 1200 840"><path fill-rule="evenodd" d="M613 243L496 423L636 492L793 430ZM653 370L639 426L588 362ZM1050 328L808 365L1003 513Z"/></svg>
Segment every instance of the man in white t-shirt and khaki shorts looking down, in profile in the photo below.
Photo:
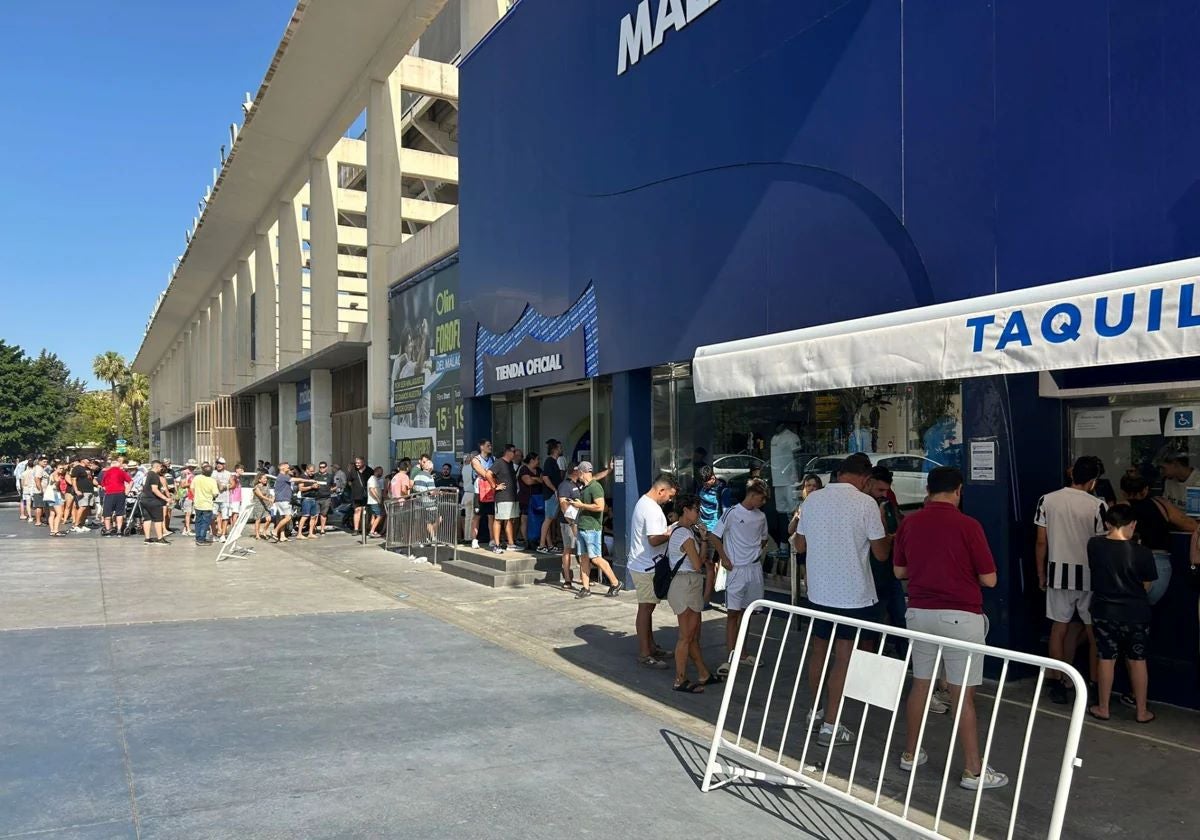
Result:
<svg viewBox="0 0 1200 840"><path fill-rule="evenodd" d="M646 496L634 505L629 522L629 559L625 568L637 594L637 664L665 671L667 652L654 643L650 617L659 599L654 595L654 558L664 553L671 529L662 505L674 498L678 485L674 476L662 473L654 480Z"/></svg>

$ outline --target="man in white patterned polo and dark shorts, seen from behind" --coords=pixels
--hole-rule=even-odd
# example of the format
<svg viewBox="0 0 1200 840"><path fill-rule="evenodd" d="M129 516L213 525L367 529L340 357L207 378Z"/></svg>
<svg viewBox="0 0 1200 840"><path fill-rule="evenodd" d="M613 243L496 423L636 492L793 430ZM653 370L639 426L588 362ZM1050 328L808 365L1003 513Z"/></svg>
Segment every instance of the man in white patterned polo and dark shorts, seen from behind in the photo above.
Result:
<svg viewBox="0 0 1200 840"><path fill-rule="evenodd" d="M871 478L871 462L865 455L851 455L838 468L838 480L809 496L804 514L792 536L792 547L808 552L809 601L815 610L834 616L877 622L878 606L871 559L886 562L892 553L892 538L875 499L864 492ZM814 706L824 671L829 638L834 638L834 664L826 680L824 722L817 743L828 746L853 744L857 736L845 726L834 731L834 718L841 703L846 671L854 647L857 628L850 624L817 620L812 623L812 650L809 652L809 685ZM859 644L871 649L876 635L863 631ZM820 709L814 709L812 718Z"/></svg>

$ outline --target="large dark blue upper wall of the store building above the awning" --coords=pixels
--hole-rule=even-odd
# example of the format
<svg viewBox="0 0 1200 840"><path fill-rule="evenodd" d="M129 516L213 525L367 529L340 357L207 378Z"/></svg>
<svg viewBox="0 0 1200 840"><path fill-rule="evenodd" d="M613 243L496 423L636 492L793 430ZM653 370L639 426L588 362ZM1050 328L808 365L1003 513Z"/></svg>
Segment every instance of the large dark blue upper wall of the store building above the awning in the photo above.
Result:
<svg viewBox="0 0 1200 840"><path fill-rule="evenodd" d="M618 77L635 8L463 62L464 342L594 282L610 373L1200 253L1200 4L720 0Z"/></svg>

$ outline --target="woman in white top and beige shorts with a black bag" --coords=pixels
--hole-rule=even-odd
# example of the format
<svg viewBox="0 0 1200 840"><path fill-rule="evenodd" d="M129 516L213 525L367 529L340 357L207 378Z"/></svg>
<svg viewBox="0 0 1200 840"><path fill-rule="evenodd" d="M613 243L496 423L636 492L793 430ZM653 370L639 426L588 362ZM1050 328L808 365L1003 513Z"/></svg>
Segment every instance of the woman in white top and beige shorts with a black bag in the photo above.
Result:
<svg viewBox="0 0 1200 840"><path fill-rule="evenodd" d="M704 556L700 553L696 539L696 522L700 520L700 499L695 496L676 498L676 515L679 517L671 539L667 541L667 562L678 570L671 578L667 604L679 619L679 640L676 642L674 690L701 694L706 685L715 685L721 678L708 670L700 653L700 618L704 611ZM700 678L688 680L688 660L696 666Z"/></svg>

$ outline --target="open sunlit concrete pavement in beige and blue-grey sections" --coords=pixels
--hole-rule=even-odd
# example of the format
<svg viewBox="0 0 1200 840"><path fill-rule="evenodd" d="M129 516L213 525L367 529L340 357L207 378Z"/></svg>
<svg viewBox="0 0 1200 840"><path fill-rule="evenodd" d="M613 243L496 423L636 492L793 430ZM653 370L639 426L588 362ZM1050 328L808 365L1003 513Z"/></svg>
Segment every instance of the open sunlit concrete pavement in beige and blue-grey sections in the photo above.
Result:
<svg viewBox="0 0 1200 840"><path fill-rule="evenodd" d="M790 791L702 796L702 720L616 702L535 635L481 641L497 608L432 568L344 535L214 556L0 510L0 838L907 836ZM427 588L365 586L372 564Z"/></svg>

